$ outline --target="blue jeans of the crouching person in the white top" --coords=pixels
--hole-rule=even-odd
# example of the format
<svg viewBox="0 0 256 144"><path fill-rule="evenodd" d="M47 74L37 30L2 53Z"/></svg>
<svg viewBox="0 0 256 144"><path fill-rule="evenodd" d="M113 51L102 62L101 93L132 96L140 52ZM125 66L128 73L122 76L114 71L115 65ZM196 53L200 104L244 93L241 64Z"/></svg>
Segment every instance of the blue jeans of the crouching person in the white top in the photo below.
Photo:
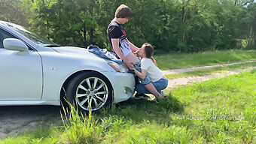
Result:
<svg viewBox="0 0 256 144"><path fill-rule="evenodd" d="M161 90L166 89L166 87L168 86L168 80L160 79L157 80L157 82L152 82L152 84L157 89L157 92L161 93ZM148 92L148 90L145 89L144 85L142 85L141 83L135 86L135 90L139 93L150 94L150 92Z"/></svg>

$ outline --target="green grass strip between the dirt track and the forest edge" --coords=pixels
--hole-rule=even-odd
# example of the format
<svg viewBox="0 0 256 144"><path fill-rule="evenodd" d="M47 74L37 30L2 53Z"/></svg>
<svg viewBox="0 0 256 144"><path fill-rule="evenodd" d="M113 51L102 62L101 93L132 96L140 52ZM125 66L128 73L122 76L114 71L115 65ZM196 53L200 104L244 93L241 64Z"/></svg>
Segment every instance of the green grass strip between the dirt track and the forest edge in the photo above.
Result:
<svg viewBox="0 0 256 144"><path fill-rule="evenodd" d="M166 54L155 55L154 58L161 70L171 70L255 60L256 50L236 49L194 54Z"/></svg>

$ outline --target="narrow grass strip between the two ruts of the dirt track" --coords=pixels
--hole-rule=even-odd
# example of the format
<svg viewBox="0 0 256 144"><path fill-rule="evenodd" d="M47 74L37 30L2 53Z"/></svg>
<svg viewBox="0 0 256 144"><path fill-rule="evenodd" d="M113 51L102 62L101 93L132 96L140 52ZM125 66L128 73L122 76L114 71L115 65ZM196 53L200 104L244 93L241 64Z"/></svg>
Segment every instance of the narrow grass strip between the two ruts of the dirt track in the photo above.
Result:
<svg viewBox="0 0 256 144"><path fill-rule="evenodd" d="M212 73L221 73L222 71L235 71L236 69L246 69L246 68L252 68L256 67L256 62L250 62L250 63L244 63L244 64L237 64L237 65L229 65L224 67L218 67L218 68L206 68L206 69L198 69L196 71L189 71L185 73L180 74L168 74L166 77L169 80L178 78L178 77L195 77L195 76L203 76L203 75L209 75Z"/></svg>

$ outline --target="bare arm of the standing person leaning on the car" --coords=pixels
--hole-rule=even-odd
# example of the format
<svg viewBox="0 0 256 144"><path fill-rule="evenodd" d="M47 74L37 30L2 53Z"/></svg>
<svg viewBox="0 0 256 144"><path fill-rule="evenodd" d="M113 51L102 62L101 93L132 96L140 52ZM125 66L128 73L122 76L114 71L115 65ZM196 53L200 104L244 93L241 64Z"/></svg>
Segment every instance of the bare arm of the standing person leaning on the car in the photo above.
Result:
<svg viewBox="0 0 256 144"><path fill-rule="evenodd" d="M127 60L124 55L122 50L119 47L119 38L111 38L111 42L112 42L112 46L114 49L114 52L117 54L117 56L121 59L123 59L123 62L125 65L127 65L127 67L132 70L134 68L133 66L133 62L130 62L129 60Z"/></svg>

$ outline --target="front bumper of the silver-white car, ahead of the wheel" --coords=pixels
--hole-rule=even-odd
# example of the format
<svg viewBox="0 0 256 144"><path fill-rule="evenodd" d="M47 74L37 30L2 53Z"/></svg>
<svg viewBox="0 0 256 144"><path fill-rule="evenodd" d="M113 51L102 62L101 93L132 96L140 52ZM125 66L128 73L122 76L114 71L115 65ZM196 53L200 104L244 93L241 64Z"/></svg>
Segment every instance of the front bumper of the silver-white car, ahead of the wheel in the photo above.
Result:
<svg viewBox="0 0 256 144"><path fill-rule="evenodd" d="M105 74L114 90L113 104L126 101L134 94L135 79L131 73L110 72Z"/></svg>

